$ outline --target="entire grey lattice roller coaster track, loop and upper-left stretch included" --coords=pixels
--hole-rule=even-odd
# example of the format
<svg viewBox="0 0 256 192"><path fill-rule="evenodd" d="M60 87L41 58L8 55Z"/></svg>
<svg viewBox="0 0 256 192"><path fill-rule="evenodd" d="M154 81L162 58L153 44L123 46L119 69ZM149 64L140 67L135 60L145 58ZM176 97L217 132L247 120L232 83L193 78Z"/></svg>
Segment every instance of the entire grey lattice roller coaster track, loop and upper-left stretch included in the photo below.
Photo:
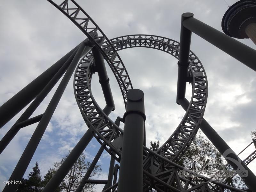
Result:
<svg viewBox="0 0 256 192"><path fill-rule="evenodd" d="M74 22L102 53L116 77L125 106L126 94L127 91L132 89L132 84L124 64L117 54L118 50L148 47L167 52L175 58L179 58L179 43L174 40L151 35L130 35L109 40L92 18L74 0L65 0L61 4L56 4L52 0L48 1ZM74 76L76 101L85 123L95 138L120 163L122 151L120 147L117 147L116 142L122 140L123 130L109 119L92 95L93 62L92 52L88 52L76 68ZM160 192L170 189L178 192L224 191L224 189L243 191L202 175L196 175L193 179L180 175L180 170L187 169L175 162L180 159L194 139L203 119L207 100L206 74L200 60L193 52L189 54L188 74L190 74L190 80L188 81L191 81L192 85L192 97L188 110L179 126L157 153L144 146L143 191L148 191L151 187ZM111 190L114 192L116 188L117 183L105 191Z"/></svg>

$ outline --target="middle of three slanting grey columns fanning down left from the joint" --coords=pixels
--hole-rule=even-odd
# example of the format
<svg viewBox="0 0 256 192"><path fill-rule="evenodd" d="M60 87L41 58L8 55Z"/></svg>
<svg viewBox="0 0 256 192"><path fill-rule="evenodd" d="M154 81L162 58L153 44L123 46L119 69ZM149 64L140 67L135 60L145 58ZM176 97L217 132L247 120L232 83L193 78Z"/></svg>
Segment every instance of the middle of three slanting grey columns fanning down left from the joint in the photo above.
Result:
<svg viewBox="0 0 256 192"><path fill-rule="evenodd" d="M16 121L16 123L11 127L11 129L4 135L4 137L0 141L0 154L6 148L6 146L10 143L13 137L19 132L20 128L17 125L25 120L27 120L36 110L36 108L40 105L40 103L44 100L44 98L48 95L48 93L52 90L54 85L59 81L60 77L63 76L65 71L67 70L70 62L74 58L76 50L70 55L70 57L66 60L62 67L55 73L52 79L45 87L41 87L42 91L36 96L36 99L28 106L28 108L24 111L24 113L20 116L20 118Z"/></svg>

